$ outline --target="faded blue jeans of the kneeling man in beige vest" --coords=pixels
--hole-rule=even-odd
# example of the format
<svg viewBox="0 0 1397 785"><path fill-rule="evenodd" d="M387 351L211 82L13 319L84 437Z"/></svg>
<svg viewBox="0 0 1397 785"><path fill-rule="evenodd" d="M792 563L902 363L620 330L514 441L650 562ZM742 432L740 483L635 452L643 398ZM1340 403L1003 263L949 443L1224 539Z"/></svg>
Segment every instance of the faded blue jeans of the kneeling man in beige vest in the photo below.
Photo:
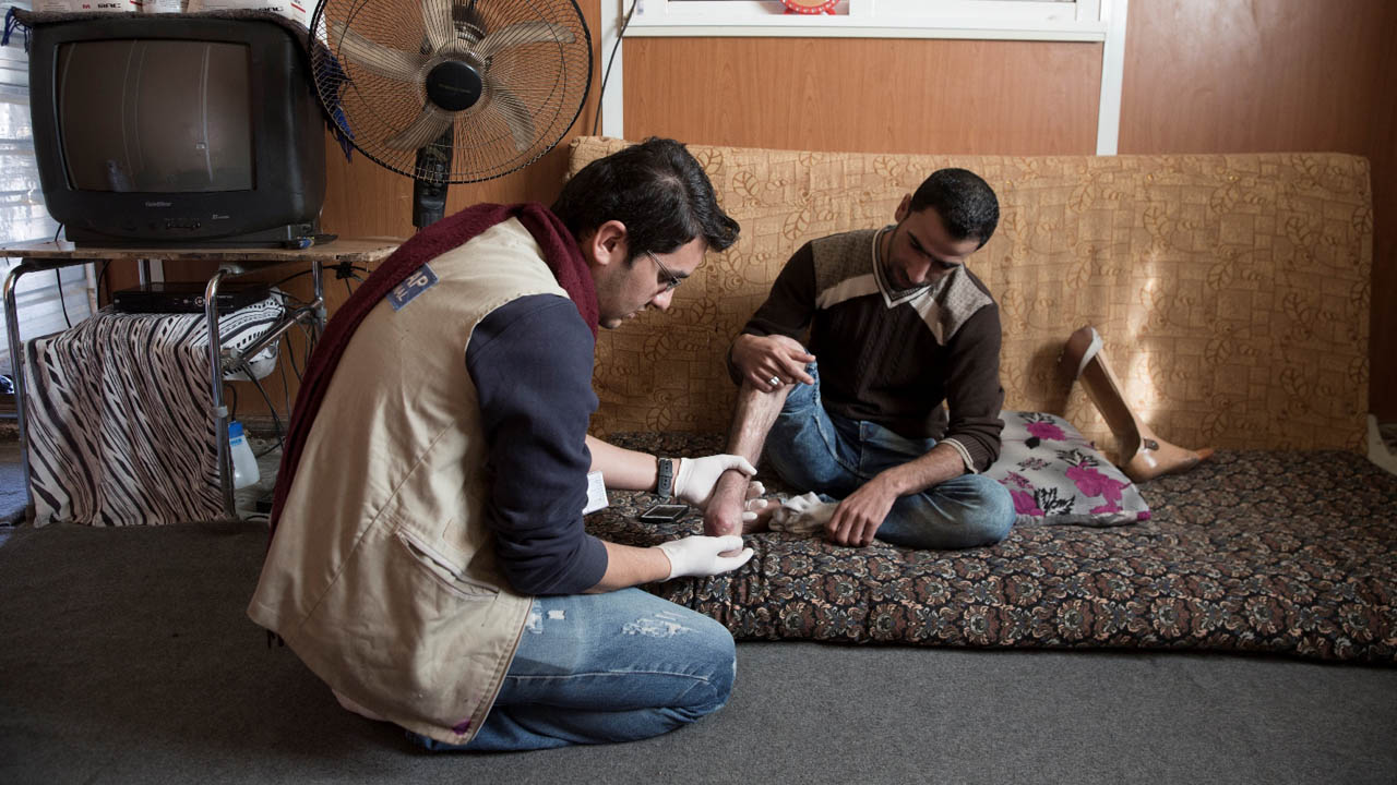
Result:
<svg viewBox="0 0 1397 785"><path fill-rule="evenodd" d="M538 750L658 736L711 714L732 691L732 634L652 594L536 596L479 733L429 750Z"/></svg>

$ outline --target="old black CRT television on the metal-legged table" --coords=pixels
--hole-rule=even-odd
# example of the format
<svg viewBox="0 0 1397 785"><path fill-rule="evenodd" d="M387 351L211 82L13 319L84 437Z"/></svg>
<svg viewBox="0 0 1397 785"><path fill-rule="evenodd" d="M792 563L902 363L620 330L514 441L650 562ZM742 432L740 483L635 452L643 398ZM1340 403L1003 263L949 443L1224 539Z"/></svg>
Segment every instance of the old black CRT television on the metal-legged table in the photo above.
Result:
<svg viewBox="0 0 1397 785"><path fill-rule="evenodd" d="M102 15L29 50L43 198L81 246L275 246L326 196L307 57L274 21Z"/></svg>

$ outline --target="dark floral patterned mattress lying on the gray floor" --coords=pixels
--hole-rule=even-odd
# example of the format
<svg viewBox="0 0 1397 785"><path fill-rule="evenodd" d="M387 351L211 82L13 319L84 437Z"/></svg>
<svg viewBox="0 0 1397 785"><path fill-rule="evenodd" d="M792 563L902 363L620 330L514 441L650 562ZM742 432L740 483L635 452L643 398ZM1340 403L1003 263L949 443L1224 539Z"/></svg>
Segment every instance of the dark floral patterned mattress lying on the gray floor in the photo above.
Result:
<svg viewBox="0 0 1397 785"><path fill-rule="evenodd" d="M666 455L721 448L717 436L615 441ZM735 573L645 588L738 640L1397 661L1397 476L1352 453L1231 451L1140 490L1153 515L1130 525L1016 525L963 552L767 532L747 538L756 556ZM588 529L630 545L701 531L697 513L640 524L651 501L612 492Z"/></svg>

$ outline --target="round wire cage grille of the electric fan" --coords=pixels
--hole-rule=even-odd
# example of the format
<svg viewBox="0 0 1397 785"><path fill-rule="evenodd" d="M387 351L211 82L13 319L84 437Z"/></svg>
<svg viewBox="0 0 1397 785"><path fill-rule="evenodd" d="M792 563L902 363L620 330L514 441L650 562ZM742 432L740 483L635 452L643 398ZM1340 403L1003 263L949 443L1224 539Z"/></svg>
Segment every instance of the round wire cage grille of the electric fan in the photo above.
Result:
<svg viewBox="0 0 1397 785"><path fill-rule="evenodd" d="M453 14L457 41L496 32L506 42L483 63L472 61L486 77L486 89L469 109L448 113L450 168L439 182L500 177L538 161L562 141L581 115L592 75L591 36L576 0L321 0L310 27L316 43L312 73L327 113L353 147L408 177L436 179L418 170L416 147L390 144L429 103L423 78L427 66L447 56L430 41L427 14L433 13ZM515 35L538 29L539 22L549 25L546 35ZM374 47L373 57L351 36ZM370 70L366 60L394 67ZM407 78L383 73L404 71L398 63L419 67ZM511 119L517 129L511 130ZM440 147L436 141L427 144Z"/></svg>

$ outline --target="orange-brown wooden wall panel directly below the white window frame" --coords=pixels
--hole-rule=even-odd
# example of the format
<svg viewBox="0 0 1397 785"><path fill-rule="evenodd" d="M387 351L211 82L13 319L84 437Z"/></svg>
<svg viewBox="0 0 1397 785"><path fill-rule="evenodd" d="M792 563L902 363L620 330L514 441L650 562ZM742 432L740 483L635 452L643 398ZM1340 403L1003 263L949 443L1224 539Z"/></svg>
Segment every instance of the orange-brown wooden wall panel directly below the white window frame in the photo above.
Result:
<svg viewBox="0 0 1397 785"><path fill-rule="evenodd" d="M1091 154L1099 43L626 41L626 137L787 149Z"/></svg>

